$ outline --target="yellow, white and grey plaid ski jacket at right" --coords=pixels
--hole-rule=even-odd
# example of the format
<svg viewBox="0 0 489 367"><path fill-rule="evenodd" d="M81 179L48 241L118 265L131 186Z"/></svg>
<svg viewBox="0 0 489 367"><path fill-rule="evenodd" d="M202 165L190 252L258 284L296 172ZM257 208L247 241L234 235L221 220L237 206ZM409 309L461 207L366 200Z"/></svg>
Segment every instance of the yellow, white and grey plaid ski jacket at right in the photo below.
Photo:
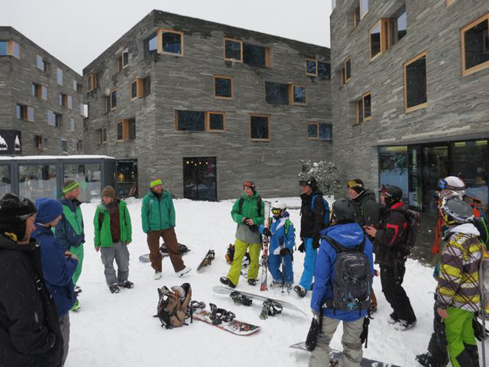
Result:
<svg viewBox="0 0 489 367"><path fill-rule="evenodd" d="M437 305L476 312L481 305L479 265L484 246L480 233L474 224L465 223L448 228L445 234L448 238L441 252Z"/></svg>

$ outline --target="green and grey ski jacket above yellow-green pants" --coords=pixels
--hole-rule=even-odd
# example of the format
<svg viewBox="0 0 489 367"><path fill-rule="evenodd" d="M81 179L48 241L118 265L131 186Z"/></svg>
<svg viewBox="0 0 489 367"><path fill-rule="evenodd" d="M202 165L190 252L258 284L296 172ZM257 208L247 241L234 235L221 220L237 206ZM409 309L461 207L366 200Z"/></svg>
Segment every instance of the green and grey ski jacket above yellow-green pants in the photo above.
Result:
<svg viewBox="0 0 489 367"><path fill-rule="evenodd" d="M258 192L255 192L251 196L248 196L243 192L242 198L244 201L241 210L240 199L236 200L233 209L231 210L231 217L233 218L233 221L238 224L235 237L245 243L261 243L261 235L260 232L258 232L258 226L265 221L265 202L263 200L260 201L261 215L258 216L258 196L260 196ZM254 227L250 228L247 224L243 223L243 218L253 220Z"/></svg>

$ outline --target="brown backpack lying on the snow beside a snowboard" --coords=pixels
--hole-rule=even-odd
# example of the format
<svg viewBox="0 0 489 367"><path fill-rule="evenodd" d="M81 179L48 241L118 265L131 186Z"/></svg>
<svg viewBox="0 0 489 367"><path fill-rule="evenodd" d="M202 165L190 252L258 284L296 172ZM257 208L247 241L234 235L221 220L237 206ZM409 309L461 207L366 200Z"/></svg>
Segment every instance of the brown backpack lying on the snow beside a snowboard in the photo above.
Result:
<svg viewBox="0 0 489 367"><path fill-rule="evenodd" d="M184 283L180 287L175 286L161 287L158 289L158 314L156 315L161 321L161 327L166 329L180 327L185 324L185 319L190 317L189 305L192 298L192 289L189 283Z"/></svg>

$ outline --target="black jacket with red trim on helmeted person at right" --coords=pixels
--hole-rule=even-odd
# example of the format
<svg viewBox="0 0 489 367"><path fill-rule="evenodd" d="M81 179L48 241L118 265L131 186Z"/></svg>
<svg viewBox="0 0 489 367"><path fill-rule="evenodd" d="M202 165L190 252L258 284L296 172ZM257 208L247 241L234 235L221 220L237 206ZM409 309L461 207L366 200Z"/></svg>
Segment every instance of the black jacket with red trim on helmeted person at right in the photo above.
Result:
<svg viewBox="0 0 489 367"><path fill-rule="evenodd" d="M395 262L404 261L406 257L404 244L408 224L402 208L402 202L396 203L392 208L381 208L379 229L374 243L377 264L393 266Z"/></svg>

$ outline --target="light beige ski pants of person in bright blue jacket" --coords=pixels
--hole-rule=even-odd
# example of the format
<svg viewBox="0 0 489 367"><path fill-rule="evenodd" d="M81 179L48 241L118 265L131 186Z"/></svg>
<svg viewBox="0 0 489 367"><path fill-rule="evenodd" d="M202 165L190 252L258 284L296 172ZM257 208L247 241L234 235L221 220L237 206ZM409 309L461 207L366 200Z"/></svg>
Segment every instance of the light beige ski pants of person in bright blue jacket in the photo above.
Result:
<svg viewBox="0 0 489 367"><path fill-rule="evenodd" d="M309 367L329 366L330 342L340 324L339 319L323 317L322 333L318 336L316 348L311 352ZM351 322L343 322L343 355L340 359L340 367L360 367L363 350L360 334L363 331L363 317Z"/></svg>

